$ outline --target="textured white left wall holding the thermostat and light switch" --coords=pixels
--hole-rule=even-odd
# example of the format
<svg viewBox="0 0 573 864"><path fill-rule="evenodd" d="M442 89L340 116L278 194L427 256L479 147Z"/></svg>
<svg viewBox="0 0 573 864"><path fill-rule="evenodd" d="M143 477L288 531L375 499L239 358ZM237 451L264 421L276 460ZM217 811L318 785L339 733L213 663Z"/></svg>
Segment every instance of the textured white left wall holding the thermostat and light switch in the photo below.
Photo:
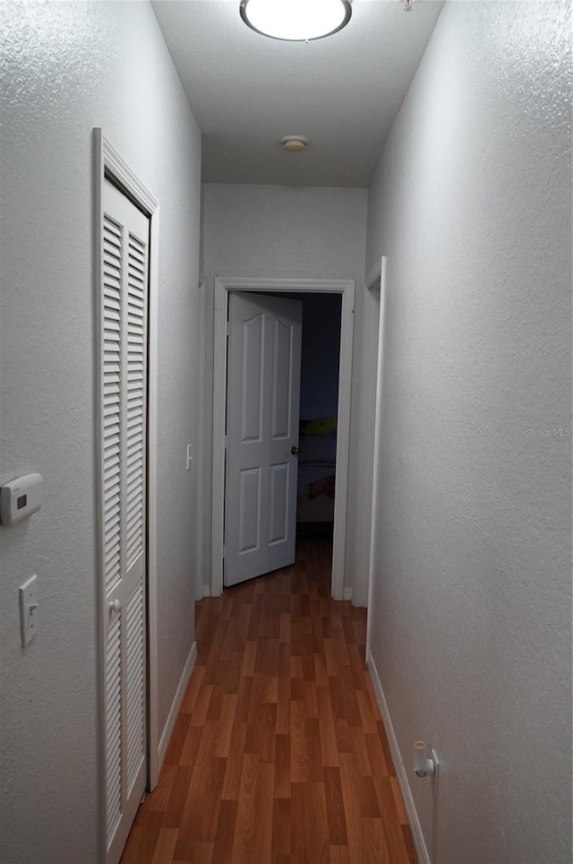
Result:
<svg viewBox="0 0 573 864"><path fill-rule="evenodd" d="M200 134L141 3L2 10L0 479L41 471L29 523L0 529L0 860L101 861L94 528L92 137L160 202L159 731L193 641L192 473L200 325ZM38 574L21 651L18 586Z"/></svg>

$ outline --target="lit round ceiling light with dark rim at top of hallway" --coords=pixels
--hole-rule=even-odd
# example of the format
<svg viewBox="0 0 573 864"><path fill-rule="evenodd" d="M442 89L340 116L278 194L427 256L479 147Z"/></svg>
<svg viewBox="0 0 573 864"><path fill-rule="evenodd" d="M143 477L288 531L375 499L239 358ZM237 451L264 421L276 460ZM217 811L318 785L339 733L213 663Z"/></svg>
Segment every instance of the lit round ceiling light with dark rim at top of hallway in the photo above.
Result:
<svg viewBox="0 0 573 864"><path fill-rule="evenodd" d="M262 36L311 42L346 27L352 7L348 0L242 0L239 12Z"/></svg>

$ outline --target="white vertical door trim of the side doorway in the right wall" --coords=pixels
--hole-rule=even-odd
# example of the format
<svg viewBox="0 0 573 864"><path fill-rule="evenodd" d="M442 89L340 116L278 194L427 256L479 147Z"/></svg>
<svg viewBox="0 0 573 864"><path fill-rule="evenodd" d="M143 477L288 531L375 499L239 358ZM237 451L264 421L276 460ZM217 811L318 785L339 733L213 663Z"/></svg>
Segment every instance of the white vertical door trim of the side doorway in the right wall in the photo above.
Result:
<svg viewBox="0 0 573 864"><path fill-rule="evenodd" d="M377 269L377 268L375 268ZM371 271L372 273L372 271ZM369 274L370 276L370 274ZM366 614L366 654L370 652L371 627L372 627L372 591L374 583L374 539L378 525L378 511L380 506L380 446L382 428L382 402L383 402L383 374L384 374L384 316L386 307L386 258L382 257L380 262L380 273L374 275L372 285L378 281L380 276L380 312L378 315L378 353L376 362L376 406L374 410L374 438L372 453L372 513L370 521L369 537L369 560L368 560L368 611Z"/></svg>

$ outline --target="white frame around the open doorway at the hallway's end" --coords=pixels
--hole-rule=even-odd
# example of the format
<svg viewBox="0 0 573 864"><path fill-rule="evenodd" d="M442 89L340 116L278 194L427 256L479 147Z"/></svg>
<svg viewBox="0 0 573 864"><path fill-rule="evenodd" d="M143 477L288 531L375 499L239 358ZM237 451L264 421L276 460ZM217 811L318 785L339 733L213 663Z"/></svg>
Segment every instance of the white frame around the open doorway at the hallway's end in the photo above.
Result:
<svg viewBox="0 0 573 864"><path fill-rule="evenodd" d="M355 281L350 279L261 279L215 277L213 341L213 488L211 528L211 596L223 592L225 543L225 422L227 415L227 310L229 291L341 294L338 374L337 494L334 499L331 595L344 597L346 498L350 443L350 398L354 339ZM220 550L220 551L219 551Z"/></svg>

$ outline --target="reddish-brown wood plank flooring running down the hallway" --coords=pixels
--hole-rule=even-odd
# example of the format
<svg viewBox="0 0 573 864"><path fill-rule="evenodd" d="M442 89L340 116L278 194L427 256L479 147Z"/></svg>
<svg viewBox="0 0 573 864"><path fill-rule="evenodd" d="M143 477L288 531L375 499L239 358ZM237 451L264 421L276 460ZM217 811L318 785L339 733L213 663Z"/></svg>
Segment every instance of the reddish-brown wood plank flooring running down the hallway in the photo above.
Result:
<svg viewBox="0 0 573 864"><path fill-rule="evenodd" d="M197 604L198 660L123 864L415 864L330 543Z"/></svg>

